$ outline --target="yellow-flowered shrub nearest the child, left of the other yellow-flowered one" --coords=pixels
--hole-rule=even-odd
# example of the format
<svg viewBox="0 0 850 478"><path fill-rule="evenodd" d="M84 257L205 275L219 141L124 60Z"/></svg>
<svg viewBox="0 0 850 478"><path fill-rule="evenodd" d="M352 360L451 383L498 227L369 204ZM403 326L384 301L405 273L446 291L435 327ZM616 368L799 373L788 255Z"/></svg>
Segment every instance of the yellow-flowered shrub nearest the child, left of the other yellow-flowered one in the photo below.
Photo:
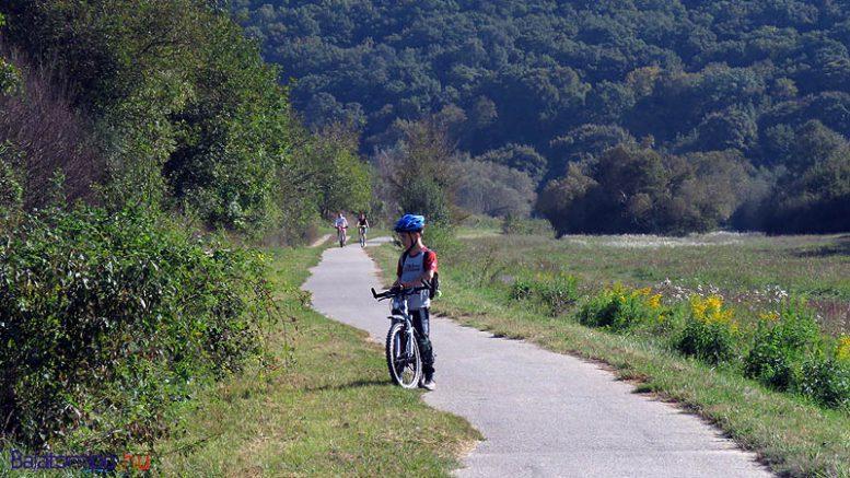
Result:
<svg viewBox="0 0 850 478"><path fill-rule="evenodd" d="M591 298L579 311L579 322L590 327L626 330L641 324L660 323L669 315L661 294L652 289L628 290L616 284Z"/></svg>

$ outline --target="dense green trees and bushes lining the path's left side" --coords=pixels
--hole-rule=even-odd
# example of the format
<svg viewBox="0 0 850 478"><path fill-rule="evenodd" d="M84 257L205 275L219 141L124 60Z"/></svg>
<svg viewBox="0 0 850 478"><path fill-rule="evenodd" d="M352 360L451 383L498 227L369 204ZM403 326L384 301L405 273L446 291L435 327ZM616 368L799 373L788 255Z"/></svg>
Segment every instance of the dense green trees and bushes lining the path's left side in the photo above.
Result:
<svg viewBox="0 0 850 478"><path fill-rule="evenodd" d="M0 0L2 444L152 443L264 349L277 312L234 243L370 205L357 143L301 127L214 5Z"/></svg>

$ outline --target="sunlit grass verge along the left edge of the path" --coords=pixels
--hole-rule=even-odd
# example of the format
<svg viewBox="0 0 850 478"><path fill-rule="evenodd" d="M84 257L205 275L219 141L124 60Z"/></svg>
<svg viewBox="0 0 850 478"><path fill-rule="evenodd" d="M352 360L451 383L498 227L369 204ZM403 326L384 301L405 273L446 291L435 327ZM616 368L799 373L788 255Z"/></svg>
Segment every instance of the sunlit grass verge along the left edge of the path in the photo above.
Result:
<svg viewBox="0 0 850 478"><path fill-rule="evenodd" d="M322 252L268 250L276 299L294 322L269 333L267 363L175 405L174 432L154 443L158 474L447 476L481 439L465 420L426 406L420 393L391 385L383 349L365 333L302 302L298 288ZM7 458L0 453L0 476L10 473Z"/></svg>

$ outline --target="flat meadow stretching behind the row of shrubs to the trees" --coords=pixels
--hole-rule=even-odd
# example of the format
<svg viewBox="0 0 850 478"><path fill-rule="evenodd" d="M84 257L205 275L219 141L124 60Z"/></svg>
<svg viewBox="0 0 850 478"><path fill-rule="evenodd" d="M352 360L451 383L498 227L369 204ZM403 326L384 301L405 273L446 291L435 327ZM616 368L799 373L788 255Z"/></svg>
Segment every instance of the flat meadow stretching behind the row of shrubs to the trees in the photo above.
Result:
<svg viewBox="0 0 850 478"><path fill-rule="evenodd" d="M779 236L715 233L689 237L489 235L467 241L485 259L489 281L510 270L564 271L586 292L620 281L687 294L717 291L753 304L805 295L835 335L850 333L850 235ZM488 261L489 260L489 261Z"/></svg>

